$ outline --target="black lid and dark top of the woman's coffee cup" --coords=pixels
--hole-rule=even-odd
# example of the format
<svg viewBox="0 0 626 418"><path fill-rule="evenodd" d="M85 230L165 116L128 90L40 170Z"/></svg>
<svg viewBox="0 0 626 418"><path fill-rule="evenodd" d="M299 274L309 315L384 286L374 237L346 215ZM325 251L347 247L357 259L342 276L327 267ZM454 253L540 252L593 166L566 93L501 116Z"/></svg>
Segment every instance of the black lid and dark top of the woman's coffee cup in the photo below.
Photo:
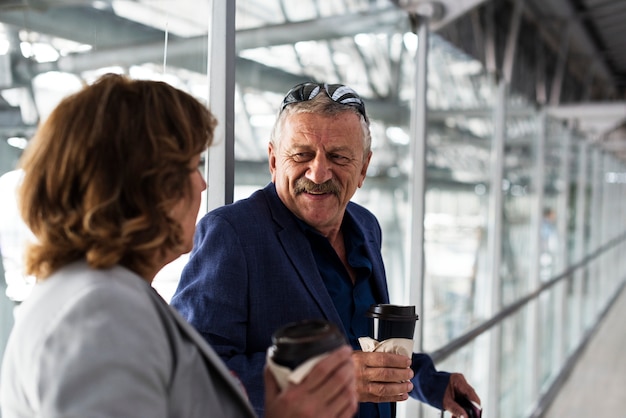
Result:
<svg viewBox="0 0 626 418"><path fill-rule="evenodd" d="M347 344L335 325L324 320L289 323L274 332L269 356L274 363L294 370L306 360Z"/></svg>

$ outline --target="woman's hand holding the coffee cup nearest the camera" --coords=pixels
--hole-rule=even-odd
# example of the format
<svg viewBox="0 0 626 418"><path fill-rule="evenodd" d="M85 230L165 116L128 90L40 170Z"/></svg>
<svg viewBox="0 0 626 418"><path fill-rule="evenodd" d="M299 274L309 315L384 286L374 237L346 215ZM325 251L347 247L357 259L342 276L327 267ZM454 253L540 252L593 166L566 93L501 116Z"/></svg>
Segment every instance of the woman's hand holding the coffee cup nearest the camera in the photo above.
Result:
<svg viewBox="0 0 626 418"><path fill-rule="evenodd" d="M265 368L265 416L351 418L358 400L352 349L342 347L311 369L297 385L281 391L272 372Z"/></svg>

